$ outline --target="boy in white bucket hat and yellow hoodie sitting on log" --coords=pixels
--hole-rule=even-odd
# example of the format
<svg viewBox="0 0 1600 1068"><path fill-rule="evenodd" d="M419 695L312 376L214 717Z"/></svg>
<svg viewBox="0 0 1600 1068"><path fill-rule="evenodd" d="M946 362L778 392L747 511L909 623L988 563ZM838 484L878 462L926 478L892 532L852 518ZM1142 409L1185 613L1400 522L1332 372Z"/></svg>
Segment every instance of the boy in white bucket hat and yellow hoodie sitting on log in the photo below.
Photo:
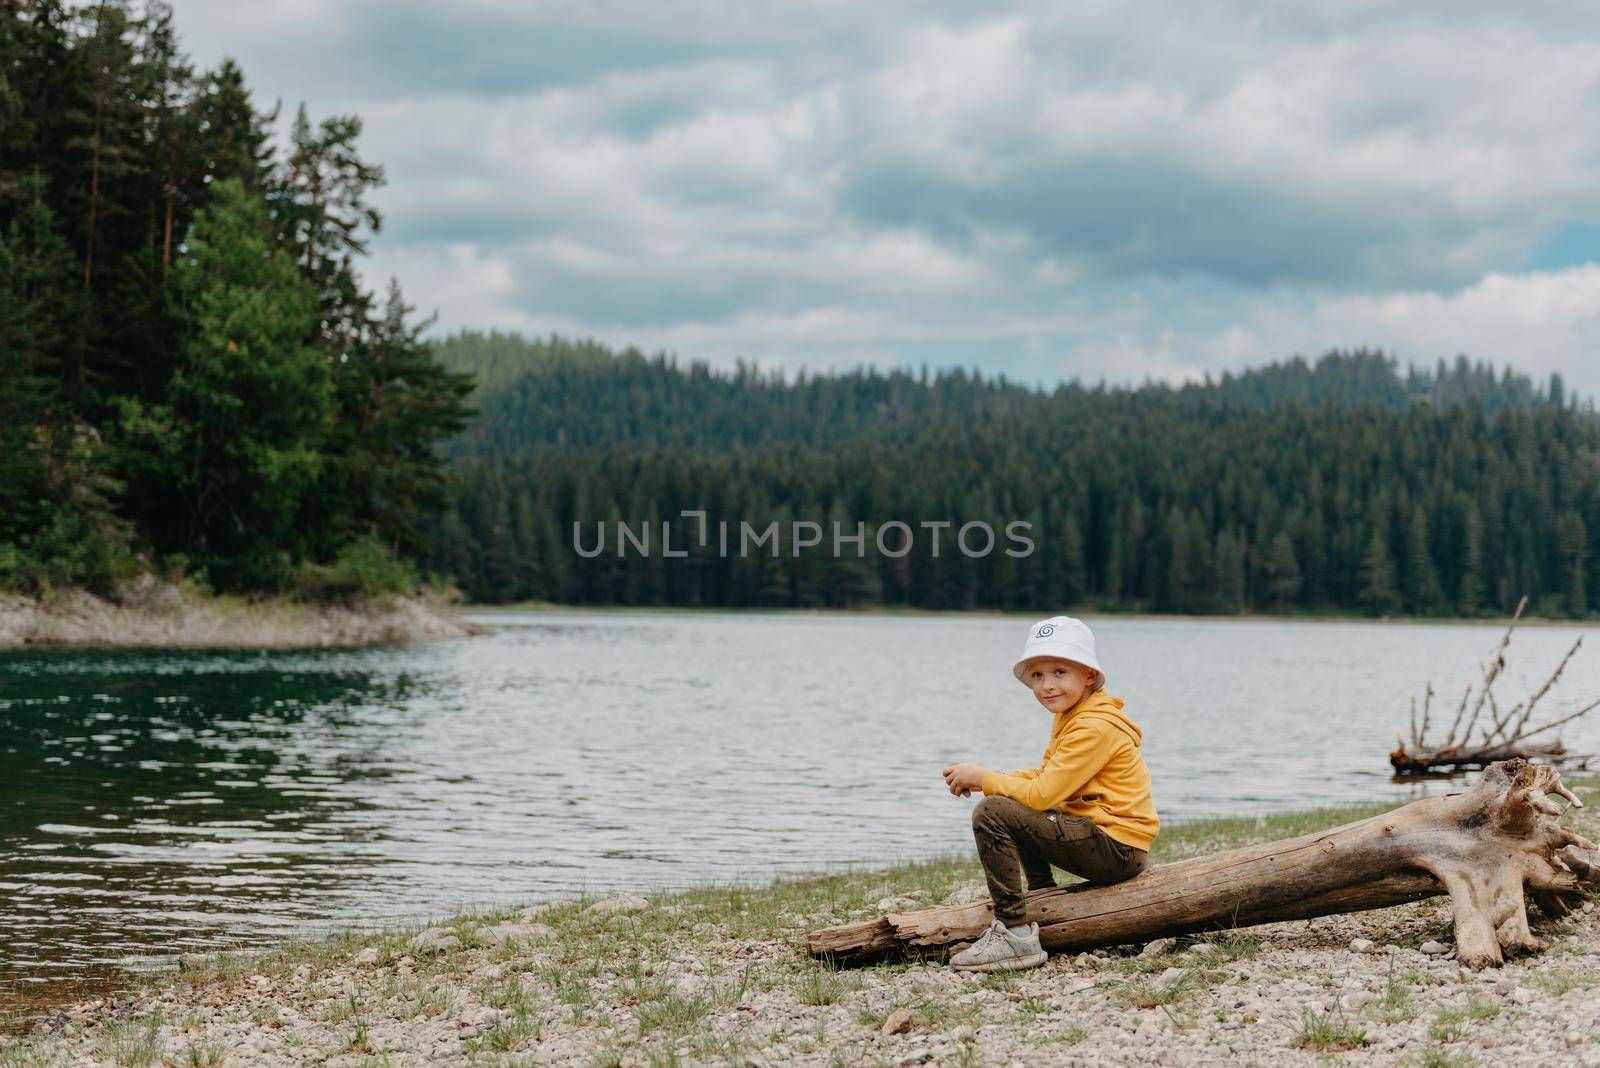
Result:
<svg viewBox="0 0 1600 1068"><path fill-rule="evenodd" d="M1056 716L1045 759L1010 774L978 764L944 769L950 793L984 793L973 838L995 921L950 958L950 967L974 972L1045 962L1038 924L1022 923L1024 875L1030 891L1056 884L1050 865L1090 883L1131 879L1144 871L1160 827L1139 727L1122 713L1122 697L1106 694L1090 628L1070 616L1034 624L1011 673Z"/></svg>

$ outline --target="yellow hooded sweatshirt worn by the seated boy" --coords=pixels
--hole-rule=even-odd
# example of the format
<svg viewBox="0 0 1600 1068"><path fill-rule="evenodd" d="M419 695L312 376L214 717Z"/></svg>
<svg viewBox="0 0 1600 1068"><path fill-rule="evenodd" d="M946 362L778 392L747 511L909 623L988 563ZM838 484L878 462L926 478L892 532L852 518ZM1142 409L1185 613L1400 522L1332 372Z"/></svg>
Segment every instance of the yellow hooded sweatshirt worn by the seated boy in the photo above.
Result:
<svg viewBox="0 0 1600 1068"><path fill-rule="evenodd" d="M1139 724L1104 689L1056 713L1038 767L984 772L984 793L1043 812L1088 817L1125 846L1149 849L1160 822L1150 801L1150 769L1139 755Z"/></svg>

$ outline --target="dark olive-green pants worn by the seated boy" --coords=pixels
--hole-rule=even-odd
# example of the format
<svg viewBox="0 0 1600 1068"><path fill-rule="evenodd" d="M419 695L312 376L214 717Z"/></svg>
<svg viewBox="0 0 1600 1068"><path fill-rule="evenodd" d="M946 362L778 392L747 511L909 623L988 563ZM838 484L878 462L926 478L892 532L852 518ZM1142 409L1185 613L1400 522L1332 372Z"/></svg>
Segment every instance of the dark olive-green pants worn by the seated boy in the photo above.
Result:
<svg viewBox="0 0 1600 1068"><path fill-rule="evenodd" d="M1027 889L1054 886L1050 865L1090 883L1122 883L1144 871L1149 854L1125 846L1088 819L1038 812L1011 798L984 798L973 809L978 862L989 878L995 919L1022 924L1022 876Z"/></svg>

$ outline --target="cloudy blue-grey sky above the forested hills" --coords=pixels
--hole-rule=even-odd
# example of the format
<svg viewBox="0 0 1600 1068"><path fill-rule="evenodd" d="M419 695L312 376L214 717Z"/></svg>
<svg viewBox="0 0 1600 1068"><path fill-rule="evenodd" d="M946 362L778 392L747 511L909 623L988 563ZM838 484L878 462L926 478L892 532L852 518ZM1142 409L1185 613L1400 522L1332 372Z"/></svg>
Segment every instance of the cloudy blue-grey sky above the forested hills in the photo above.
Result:
<svg viewBox="0 0 1600 1068"><path fill-rule="evenodd" d="M176 0L355 112L442 329L1198 377L1466 352L1600 393L1589 3Z"/></svg>

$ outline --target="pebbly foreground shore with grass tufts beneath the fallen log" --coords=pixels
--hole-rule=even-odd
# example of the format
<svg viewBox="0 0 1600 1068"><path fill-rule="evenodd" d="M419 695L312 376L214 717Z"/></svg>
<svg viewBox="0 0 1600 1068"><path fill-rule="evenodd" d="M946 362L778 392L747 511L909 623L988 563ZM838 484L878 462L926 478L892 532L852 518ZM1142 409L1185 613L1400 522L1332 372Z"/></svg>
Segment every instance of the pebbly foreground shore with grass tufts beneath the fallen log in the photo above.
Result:
<svg viewBox="0 0 1600 1068"><path fill-rule="evenodd" d="M1600 788L1576 785L1590 809L1571 815L1592 836ZM1366 814L1179 827L1158 859ZM976 876L952 859L184 959L144 991L0 1041L0 1066L1600 1066L1594 902L1536 921L1544 953L1483 972L1453 959L1443 897L1053 956L1021 974L938 961L840 970L805 954L821 926L981 899Z"/></svg>

